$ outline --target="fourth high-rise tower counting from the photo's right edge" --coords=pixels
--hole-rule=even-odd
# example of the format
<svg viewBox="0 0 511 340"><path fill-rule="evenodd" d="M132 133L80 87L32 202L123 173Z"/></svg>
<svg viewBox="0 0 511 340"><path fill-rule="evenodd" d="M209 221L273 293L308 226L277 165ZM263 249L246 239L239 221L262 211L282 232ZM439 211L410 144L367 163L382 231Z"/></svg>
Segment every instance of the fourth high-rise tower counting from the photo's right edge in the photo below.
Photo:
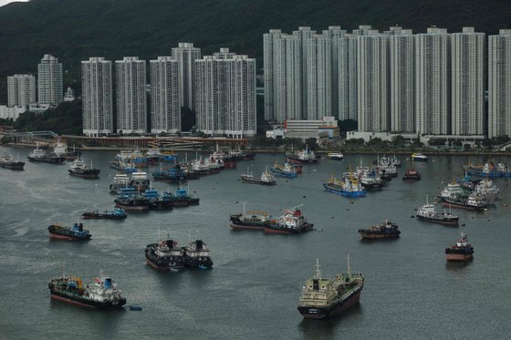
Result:
<svg viewBox="0 0 511 340"><path fill-rule="evenodd" d="M415 51L412 30L391 27L391 131L415 131Z"/></svg>

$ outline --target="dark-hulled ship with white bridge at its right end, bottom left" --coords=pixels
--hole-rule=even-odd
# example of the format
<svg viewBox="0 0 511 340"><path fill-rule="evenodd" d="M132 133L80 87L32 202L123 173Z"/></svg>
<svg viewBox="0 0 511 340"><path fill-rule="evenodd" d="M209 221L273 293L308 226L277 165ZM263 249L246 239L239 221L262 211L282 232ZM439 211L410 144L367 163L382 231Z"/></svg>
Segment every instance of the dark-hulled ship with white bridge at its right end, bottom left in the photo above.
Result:
<svg viewBox="0 0 511 340"><path fill-rule="evenodd" d="M100 309L119 308L126 304L126 299L120 296L117 283L108 276L99 275L93 283L83 286L80 278L62 275L51 279L48 288L52 299L68 304Z"/></svg>

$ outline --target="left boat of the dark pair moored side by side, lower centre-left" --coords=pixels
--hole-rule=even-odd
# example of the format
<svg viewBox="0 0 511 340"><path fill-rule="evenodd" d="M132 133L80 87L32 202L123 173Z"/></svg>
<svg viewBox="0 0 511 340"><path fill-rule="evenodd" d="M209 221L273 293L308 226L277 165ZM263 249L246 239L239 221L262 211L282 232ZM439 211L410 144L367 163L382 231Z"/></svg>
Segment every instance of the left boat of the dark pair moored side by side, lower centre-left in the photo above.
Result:
<svg viewBox="0 0 511 340"><path fill-rule="evenodd" d="M184 268L183 248L176 247L177 242L163 240L145 247L145 259L152 268L161 271L177 272Z"/></svg>

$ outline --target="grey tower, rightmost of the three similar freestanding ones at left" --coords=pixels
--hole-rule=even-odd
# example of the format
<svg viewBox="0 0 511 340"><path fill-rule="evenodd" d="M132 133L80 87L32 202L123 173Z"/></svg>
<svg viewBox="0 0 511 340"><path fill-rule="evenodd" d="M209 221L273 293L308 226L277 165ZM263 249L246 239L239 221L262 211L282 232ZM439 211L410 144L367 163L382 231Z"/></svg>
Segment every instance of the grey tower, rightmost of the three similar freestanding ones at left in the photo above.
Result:
<svg viewBox="0 0 511 340"><path fill-rule="evenodd" d="M158 57L149 62L151 74L151 132L181 131L178 62Z"/></svg>

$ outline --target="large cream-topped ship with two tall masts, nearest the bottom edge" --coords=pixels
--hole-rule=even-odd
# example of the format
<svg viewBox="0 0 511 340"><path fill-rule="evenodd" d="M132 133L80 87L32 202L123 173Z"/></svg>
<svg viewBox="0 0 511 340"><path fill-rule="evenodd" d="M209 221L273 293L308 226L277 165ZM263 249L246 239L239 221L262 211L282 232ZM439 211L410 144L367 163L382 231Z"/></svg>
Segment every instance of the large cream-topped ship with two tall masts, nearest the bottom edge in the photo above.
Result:
<svg viewBox="0 0 511 340"><path fill-rule="evenodd" d="M333 279L324 279L319 268L317 259L316 274L302 288L297 309L304 318L328 318L359 304L364 277L362 273L351 273L349 257L348 272L341 272Z"/></svg>

